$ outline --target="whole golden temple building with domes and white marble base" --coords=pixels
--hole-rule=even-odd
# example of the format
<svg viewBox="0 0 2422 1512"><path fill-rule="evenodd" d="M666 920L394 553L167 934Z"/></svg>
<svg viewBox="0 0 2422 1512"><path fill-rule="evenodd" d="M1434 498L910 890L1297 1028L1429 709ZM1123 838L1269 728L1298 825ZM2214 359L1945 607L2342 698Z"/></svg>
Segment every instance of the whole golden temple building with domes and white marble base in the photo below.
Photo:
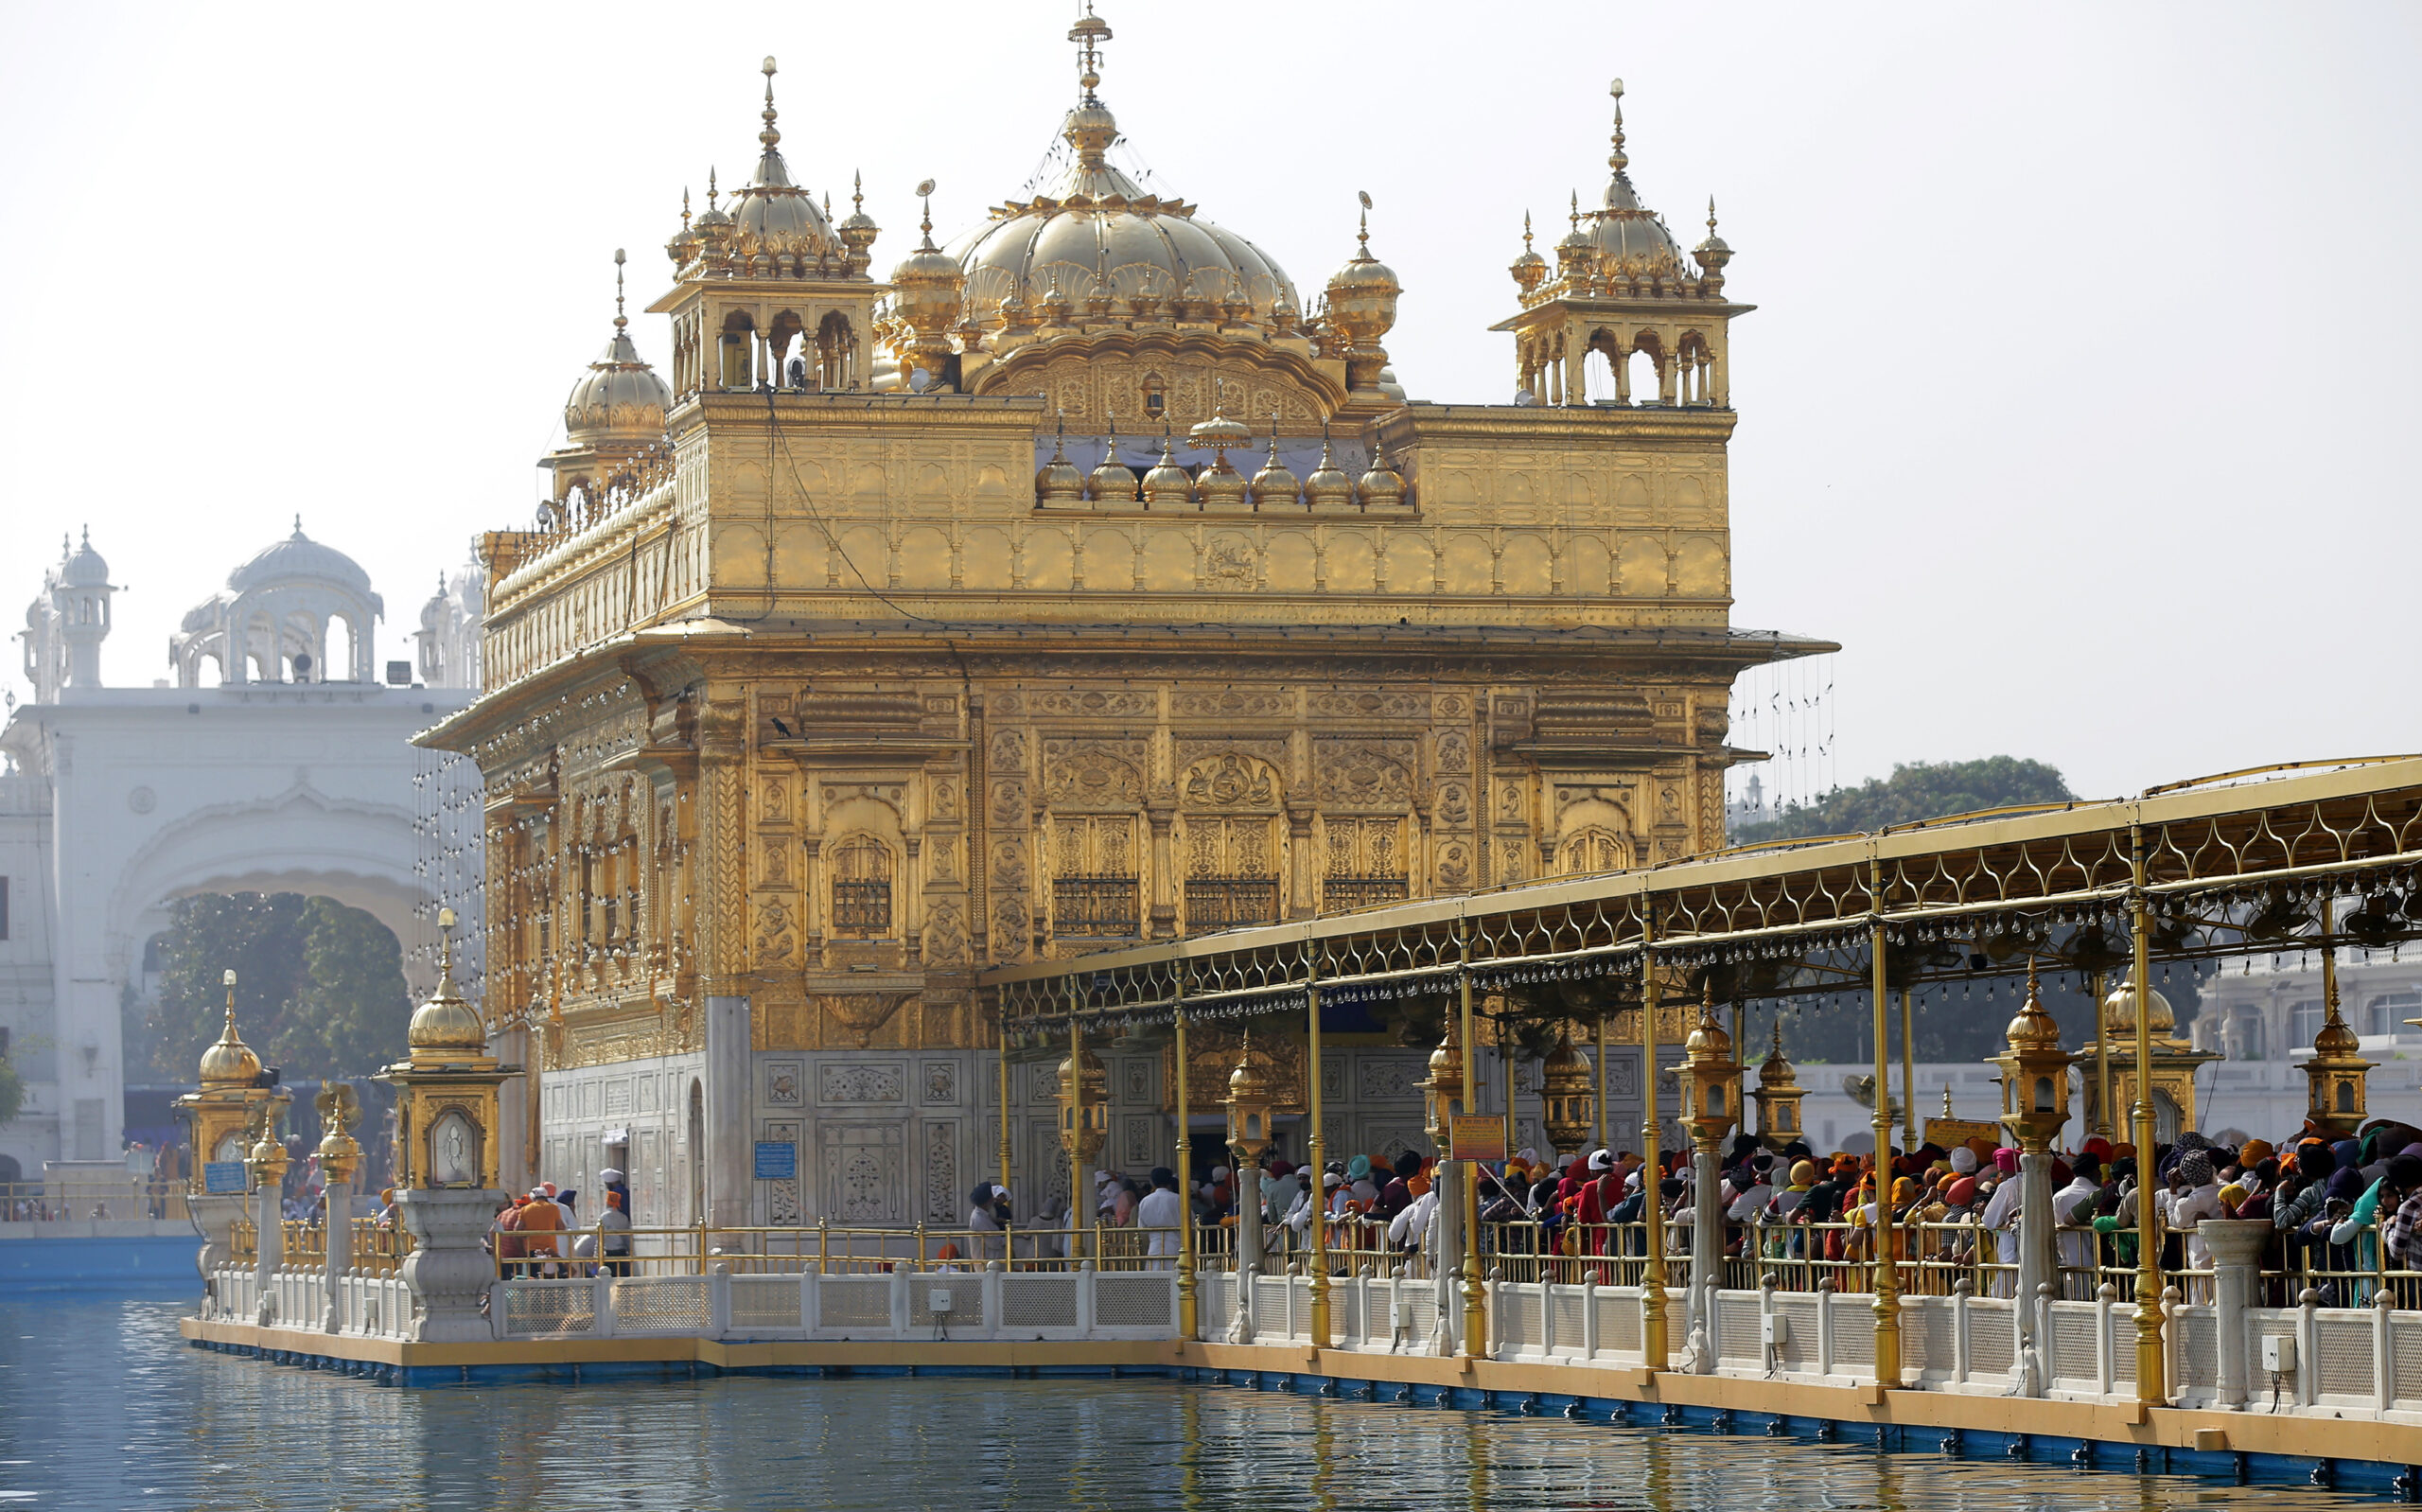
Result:
<svg viewBox="0 0 2422 1512"><path fill-rule="evenodd" d="M768 58L758 170L683 211L649 305L661 434L610 346L538 528L482 538L489 693L429 741L487 775L506 1185L620 1161L642 1221L957 1219L1000 1117L981 967L1712 848L1734 674L1826 649L1729 623L1729 250L1640 257L1618 165L1596 242L1516 264L1521 400L1405 400L1419 291L1371 242L1439 228L1342 211L1305 298L1117 165L1107 36L1071 31L1044 187L889 274L860 199L794 184ZM1661 395L1584 400L1608 322ZM1167 1161L1163 1047L1102 1052L1104 1161ZM1063 1054L1010 1110L1051 1190ZM1337 1117L1417 1141L1417 1078Z"/></svg>

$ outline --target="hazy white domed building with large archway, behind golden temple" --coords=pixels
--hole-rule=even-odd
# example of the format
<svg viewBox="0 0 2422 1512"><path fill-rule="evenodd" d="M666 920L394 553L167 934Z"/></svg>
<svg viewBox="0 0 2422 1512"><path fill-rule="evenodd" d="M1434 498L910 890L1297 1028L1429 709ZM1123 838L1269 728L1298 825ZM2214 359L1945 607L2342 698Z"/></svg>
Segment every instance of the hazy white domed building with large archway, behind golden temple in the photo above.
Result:
<svg viewBox="0 0 2422 1512"><path fill-rule="evenodd" d="M131 688L102 681L114 591L90 538L63 550L22 637L34 703L0 729L0 1030L29 1083L0 1129L0 1178L121 1158L121 993L179 897L366 909L417 989L434 979L436 906L453 904L460 979L480 979L480 775L409 744L475 688L414 681L409 664L378 681L368 574L298 523L184 618L172 681ZM431 611L450 635L438 666L477 669L477 591L467 623L460 584Z"/></svg>

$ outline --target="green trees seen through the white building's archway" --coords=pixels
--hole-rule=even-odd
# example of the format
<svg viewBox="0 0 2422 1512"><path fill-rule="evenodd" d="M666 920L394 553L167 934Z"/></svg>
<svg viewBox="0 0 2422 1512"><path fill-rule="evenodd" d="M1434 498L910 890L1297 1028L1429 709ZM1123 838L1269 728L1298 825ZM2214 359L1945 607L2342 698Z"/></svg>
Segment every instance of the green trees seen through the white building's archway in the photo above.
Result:
<svg viewBox="0 0 2422 1512"><path fill-rule="evenodd" d="M291 1081L366 1076L397 1059L412 1001L404 952L361 909L298 892L177 899L160 938L160 998L128 1044L153 1047L165 1081L194 1076L218 1040L235 972L235 1020Z"/></svg>

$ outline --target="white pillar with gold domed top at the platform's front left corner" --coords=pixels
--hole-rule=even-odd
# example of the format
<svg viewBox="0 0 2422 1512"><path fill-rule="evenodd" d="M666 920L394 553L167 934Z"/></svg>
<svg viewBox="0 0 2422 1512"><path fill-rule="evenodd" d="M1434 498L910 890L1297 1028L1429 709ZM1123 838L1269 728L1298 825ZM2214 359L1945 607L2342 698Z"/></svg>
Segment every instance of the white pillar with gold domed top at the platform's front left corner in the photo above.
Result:
<svg viewBox="0 0 2422 1512"><path fill-rule="evenodd" d="M492 1338L480 1301L497 1270L480 1241L504 1204L497 1088L521 1076L489 1054L480 1010L455 989L453 923L453 909L438 909L438 984L412 1013L407 1056L378 1071L397 1102L395 1204L412 1233L402 1267L412 1338L431 1342Z"/></svg>

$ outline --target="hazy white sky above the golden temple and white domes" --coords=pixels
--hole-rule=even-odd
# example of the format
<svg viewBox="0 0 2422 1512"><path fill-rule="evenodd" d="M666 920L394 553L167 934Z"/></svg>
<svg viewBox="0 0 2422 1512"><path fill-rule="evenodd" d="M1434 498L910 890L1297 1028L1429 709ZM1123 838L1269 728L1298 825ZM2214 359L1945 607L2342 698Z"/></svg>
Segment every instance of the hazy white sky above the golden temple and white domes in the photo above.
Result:
<svg viewBox="0 0 2422 1512"><path fill-rule="evenodd" d="M530 463L666 279L683 184L782 148L877 269L1020 189L1061 0L0 5L0 601L65 528L114 683L291 516L388 598L526 521ZM2080 792L2422 749L2422 10L1104 0L1167 191L1308 291L1373 250L1417 397L1511 393L1504 274L1606 177L1737 247L1734 623L1826 635L1838 773L2010 751ZM1216 24L1211 24L1216 15ZM664 359L659 317L635 325ZM2405 436L2405 441L2400 441ZM17 695L17 654L7 657Z"/></svg>

